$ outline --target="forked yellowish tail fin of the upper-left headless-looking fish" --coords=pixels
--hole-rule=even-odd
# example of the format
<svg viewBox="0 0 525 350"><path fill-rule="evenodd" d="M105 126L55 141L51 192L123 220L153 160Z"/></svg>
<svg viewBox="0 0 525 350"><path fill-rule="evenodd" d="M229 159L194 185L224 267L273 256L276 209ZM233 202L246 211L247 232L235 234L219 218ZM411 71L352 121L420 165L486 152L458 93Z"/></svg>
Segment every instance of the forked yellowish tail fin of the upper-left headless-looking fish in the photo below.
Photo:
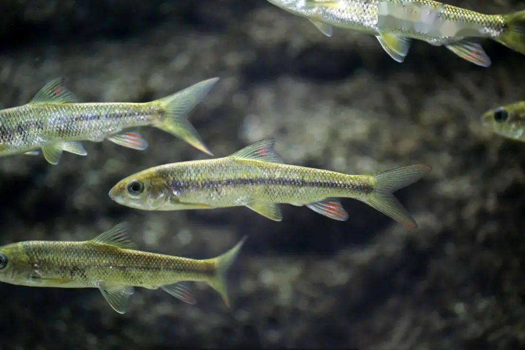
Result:
<svg viewBox="0 0 525 350"><path fill-rule="evenodd" d="M164 105L165 118L156 127L180 137L197 150L213 155L186 116L206 97L218 80L219 78L204 80L158 100Z"/></svg>

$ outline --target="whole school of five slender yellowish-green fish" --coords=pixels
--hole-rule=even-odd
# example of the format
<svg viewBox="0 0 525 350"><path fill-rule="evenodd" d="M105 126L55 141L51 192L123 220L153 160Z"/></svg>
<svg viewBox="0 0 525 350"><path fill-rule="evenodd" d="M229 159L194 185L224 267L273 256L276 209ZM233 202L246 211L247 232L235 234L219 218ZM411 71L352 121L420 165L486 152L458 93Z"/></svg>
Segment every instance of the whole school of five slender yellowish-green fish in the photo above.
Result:
<svg viewBox="0 0 525 350"><path fill-rule="evenodd" d="M404 61L411 39L445 46L461 58L488 67L477 43L490 38L525 54L525 11L485 15L432 0L268 0L309 19L324 35L333 27L377 37L393 59ZM79 103L64 78L48 82L27 104L0 110L0 156L35 155L58 164L62 152L86 155L82 141L109 140L136 150L148 143L134 130L154 126L208 155L187 115L212 89L208 79L144 103ZM525 102L486 112L482 124L525 142ZM279 204L306 206L334 220L350 214L339 198L353 198L409 228L415 220L394 197L424 177L424 164L375 174L349 175L284 164L275 141L263 139L222 158L165 164L125 177L109 191L116 203L141 210L213 209L245 206L282 220ZM0 247L0 281L29 287L97 288L113 310L125 313L135 287L162 289L195 304L187 282L206 282L230 304L226 273L246 237L224 254L196 260L138 250L119 224L88 241L22 241Z"/></svg>

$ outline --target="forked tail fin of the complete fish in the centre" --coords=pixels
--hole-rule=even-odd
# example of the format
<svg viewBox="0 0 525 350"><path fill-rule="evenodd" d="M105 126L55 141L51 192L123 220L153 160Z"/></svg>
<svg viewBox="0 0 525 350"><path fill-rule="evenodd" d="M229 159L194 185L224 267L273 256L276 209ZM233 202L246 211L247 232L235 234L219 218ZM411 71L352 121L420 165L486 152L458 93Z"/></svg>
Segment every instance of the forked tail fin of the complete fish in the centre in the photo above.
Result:
<svg viewBox="0 0 525 350"><path fill-rule="evenodd" d="M417 224L408 214L408 211L394 197L396 190L411 185L425 176L430 171L428 165L411 165L403 168L392 169L374 175L375 185L372 193L364 198L364 202L371 207L390 216L401 224L416 228Z"/></svg>

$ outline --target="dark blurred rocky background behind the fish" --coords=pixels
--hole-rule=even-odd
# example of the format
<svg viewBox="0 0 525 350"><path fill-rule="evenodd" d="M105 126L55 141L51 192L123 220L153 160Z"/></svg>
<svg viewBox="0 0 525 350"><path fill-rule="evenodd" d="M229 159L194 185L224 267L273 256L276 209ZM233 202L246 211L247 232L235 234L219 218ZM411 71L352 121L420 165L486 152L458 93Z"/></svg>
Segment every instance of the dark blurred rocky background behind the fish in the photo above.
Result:
<svg viewBox="0 0 525 350"><path fill-rule="evenodd" d="M487 13L522 1L450 1ZM121 221L144 250L215 256L249 240L229 274L234 305L195 284L197 305L138 289L125 315L95 289L1 284L0 348L525 346L525 146L480 115L525 99L525 57L485 41L492 67L416 41L403 64L377 40L265 0L56 1L0 4L0 108L60 75L82 101L142 102L221 80L191 114L216 156L275 136L288 163L368 173L432 165L397 196L406 229L355 200L347 222L283 206L154 213L108 197L150 166L205 158L160 130L145 152L85 142L88 156L0 160L0 243L85 240Z"/></svg>

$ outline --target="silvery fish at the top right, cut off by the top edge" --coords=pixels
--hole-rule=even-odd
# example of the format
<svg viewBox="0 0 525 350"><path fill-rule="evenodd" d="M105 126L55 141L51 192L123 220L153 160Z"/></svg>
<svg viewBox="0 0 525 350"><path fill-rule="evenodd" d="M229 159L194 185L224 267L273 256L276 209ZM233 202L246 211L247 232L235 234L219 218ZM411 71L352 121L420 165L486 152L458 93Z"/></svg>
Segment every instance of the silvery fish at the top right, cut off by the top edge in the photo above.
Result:
<svg viewBox="0 0 525 350"><path fill-rule="evenodd" d="M491 60L475 38L490 38L525 55L525 11L485 15L433 0L268 0L307 18L325 36L333 27L374 35L397 62L411 39L445 46L459 57L488 67Z"/></svg>

